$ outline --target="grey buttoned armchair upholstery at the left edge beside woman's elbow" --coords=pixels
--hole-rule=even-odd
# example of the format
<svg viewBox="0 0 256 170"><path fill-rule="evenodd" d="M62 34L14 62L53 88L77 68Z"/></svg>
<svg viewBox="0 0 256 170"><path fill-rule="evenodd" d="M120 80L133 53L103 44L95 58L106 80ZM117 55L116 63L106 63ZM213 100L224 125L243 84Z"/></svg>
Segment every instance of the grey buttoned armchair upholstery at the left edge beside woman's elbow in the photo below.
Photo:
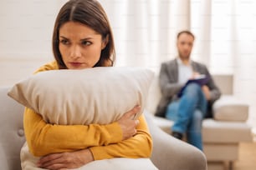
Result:
<svg viewBox="0 0 256 170"><path fill-rule="evenodd" d="M7 91L8 87L0 90L0 151L2 153L0 166L1 169L18 170L20 169L19 151L25 142L23 106L8 97Z"/></svg>

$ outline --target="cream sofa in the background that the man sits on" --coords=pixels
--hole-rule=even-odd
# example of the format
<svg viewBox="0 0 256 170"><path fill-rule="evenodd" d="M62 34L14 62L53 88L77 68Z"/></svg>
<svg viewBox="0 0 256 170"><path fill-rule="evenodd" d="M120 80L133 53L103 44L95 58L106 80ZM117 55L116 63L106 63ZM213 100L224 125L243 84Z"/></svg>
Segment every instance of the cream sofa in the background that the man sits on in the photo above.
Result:
<svg viewBox="0 0 256 170"><path fill-rule="evenodd" d="M213 75L215 83L222 92L222 97L213 105L213 117L202 122L203 152L207 157L209 170L233 168L239 158L239 143L253 141L251 127L247 124L248 104L233 95L232 75ZM151 84L146 109L153 116L153 121L164 132L172 133L173 122L164 117L156 117L156 106L161 91L156 74Z"/></svg>

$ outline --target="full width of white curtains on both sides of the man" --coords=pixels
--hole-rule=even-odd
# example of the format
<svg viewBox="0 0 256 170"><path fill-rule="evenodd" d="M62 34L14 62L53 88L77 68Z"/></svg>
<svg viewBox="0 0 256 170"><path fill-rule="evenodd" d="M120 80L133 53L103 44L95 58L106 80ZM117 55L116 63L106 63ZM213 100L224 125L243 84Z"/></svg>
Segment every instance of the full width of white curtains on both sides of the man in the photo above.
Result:
<svg viewBox="0 0 256 170"><path fill-rule="evenodd" d="M234 94L250 105L256 128L256 1L100 0L115 34L117 66L151 67L177 56L176 36L196 36L192 58L215 74L233 74Z"/></svg>

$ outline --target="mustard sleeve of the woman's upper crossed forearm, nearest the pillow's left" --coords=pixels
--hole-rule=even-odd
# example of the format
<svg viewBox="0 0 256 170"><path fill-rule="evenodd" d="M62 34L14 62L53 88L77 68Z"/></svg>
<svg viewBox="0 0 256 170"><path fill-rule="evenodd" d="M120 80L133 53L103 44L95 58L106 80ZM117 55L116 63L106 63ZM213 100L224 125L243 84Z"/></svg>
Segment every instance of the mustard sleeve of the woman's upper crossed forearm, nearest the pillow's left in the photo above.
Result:
<svg viewBox="0 0 256 170"><path fill-rule="evenodd" d="M122 130L118 122L108 125L53 125L28 107L23 118L28 148L34 156L64 153L92 146L119 143Z"/></svg>

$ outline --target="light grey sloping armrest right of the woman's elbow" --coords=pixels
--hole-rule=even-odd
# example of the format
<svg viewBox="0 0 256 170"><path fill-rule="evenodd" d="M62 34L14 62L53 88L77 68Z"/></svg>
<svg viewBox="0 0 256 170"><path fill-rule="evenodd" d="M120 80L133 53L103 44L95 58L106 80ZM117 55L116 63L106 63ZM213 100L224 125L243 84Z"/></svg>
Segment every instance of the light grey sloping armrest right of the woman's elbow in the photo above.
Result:
<svg viewBox="0 0 256 170"><path fill-rule="evenodd" d="M197 148L172 138L152 121L152 115L145 112L146 121L153 138L151 161L161 170L206 170L205 155Z"/></svg>

